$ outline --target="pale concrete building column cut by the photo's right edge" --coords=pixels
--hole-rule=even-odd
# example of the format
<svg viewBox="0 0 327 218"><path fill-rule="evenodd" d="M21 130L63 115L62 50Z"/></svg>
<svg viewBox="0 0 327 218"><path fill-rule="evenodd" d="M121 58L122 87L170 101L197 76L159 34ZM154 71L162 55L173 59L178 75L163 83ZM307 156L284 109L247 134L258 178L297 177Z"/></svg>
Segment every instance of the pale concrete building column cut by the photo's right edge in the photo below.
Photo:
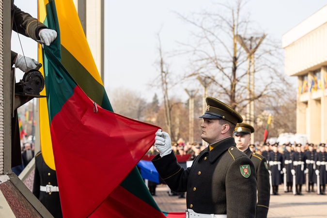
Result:
<svg viewBox="0 0 327 218"><path fill-rule="evenodd" d="M321 142L327 143L327 66L321 68L322 96L321 96ZM326 94L325 94L326 93Z"/></svg>

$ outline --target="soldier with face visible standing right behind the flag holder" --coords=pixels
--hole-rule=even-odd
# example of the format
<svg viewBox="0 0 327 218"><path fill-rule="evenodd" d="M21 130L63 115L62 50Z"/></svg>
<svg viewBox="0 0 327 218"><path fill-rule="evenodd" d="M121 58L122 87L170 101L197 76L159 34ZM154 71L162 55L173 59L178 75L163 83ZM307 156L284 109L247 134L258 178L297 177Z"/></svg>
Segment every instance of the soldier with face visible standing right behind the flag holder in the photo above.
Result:
<svg viewBox="0 0 327 218"><path fill-rule="evenodd" d="M253 132L253 126L246 123L237 124L234 130L234 139L236 147L249 156L257 171L258 203L255 217L266 218L270 200L269 172L265 157L250 150L249 143ZM255 148L254 145L252 146Z"/></svg>

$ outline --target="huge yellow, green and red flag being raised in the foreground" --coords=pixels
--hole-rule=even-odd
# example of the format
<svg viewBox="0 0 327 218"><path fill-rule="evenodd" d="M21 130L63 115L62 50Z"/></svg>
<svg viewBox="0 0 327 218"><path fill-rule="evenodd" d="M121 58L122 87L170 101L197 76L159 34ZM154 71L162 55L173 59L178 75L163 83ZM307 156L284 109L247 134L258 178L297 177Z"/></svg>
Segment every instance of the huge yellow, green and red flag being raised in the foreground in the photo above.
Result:
<svg viewBox="0 0 327 218"><path fill-rule="evenodd" d="M135 167L159 127L109 112L73 1L38 4L40 21L58 32L39 47L48 96L40 99L40 136L45 162L57 170L63 216L165 217Z"/></svg>

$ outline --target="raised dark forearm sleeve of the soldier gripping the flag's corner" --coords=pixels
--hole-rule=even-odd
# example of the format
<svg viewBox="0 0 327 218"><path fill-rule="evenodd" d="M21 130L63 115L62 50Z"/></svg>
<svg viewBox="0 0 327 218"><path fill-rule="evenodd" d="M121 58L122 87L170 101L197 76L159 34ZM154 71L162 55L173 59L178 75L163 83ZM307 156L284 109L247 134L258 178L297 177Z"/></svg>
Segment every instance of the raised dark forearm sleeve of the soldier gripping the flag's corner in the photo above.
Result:
<svg viewBox="0 0 327 218"><path fill-rule="evenodd" d="M185 192L187 190L187 179L190 168L184 170L176 159L173 152L171 154L163 156L155 156L152 159L153 165L156 167L160 177L165 183L175 192Z"/></svg>

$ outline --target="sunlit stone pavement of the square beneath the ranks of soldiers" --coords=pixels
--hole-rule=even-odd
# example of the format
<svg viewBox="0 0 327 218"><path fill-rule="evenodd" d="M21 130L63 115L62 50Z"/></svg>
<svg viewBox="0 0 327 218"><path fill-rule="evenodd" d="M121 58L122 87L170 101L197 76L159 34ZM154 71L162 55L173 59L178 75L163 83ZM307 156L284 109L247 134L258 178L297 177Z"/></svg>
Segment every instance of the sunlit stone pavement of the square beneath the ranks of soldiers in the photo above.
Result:
<svg viewBox="0 0 327 218"><path fill-rule="evenodd" d="M314 187L316 190L316 187ZM302 189L305 189L303 185ZM169 196L166 185L158 185L154 199L163 211L184 212L186 199ZM284 193L283 185L279 187L280 195L270 196L268 218L327 218L327 195L317 195L302 191L303 195L294 196Z"/></svg>

